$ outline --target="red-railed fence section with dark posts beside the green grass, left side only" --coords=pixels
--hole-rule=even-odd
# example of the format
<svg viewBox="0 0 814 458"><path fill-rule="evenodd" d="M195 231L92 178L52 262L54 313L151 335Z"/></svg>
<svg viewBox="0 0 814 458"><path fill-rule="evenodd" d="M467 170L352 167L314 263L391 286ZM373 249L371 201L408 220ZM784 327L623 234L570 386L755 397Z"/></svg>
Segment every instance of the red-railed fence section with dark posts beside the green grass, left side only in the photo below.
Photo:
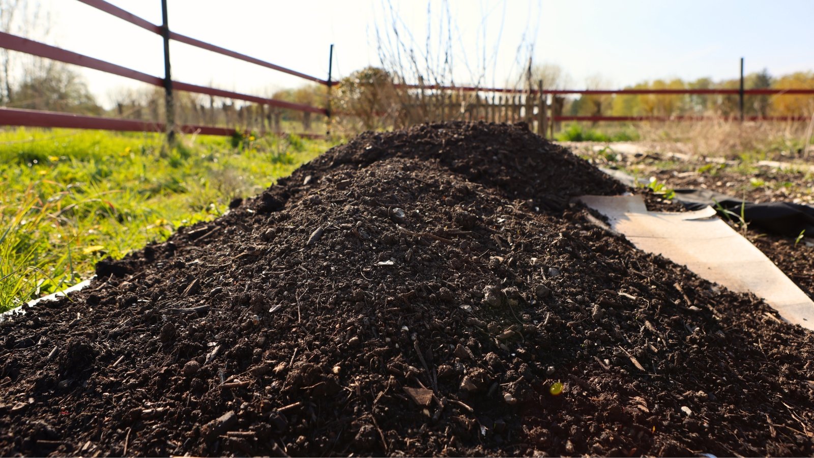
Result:
<svg viewBox="0 0 814 458"><path fill-rule="evenodd" d="M234 134L234 128L216 127L216 126L197 126L197 125L176 125L175 123L175 107L173 102L173 93L176 90L182 90L195 94L209 95L210 97L225 97L228 99L243 100L244 102L256 103L260 107L260 113L253 113L248 119L260 121L260 130L265 130L265 126L270 126L275 132L282 132L282 111L283 109L295 110L303 112L303 125L305 130L309 130L311 125L312 113L324 115L328 118L328 126L330 131L330 103L326 101L325 108L318 108L300 103L291 103L284 100L269 99L266 97L258 97L256 95L241 94L230 90L215 89L207 86L198 86L181 81L173 81L171 76L171 66L169 59L169 41L174 40L183 42L191 46L196 46L201 49L216 52L221 55L226 55L234 59L241 59L243 61L257 64L265 68L270 68L278 72L287 73L295 77L300 77L308 81L317 82L328 87L329 100L330 100L330 87L335 85L335 81L331 81L331 64L333 60L333 45L330 46L329 64L328 64L328 78L323 80L318 77L313 77L305 73L296 72L290 68L284 68L276 64L265 62L264 60L256 59L248 55L240 54L239 52L230 51L221 46L215 46L207 42L202 42L192 37L186 37L180 33L175 33L169 29L168 15L167 15L167 0L161 0L162 17L164 24L156 25L144 20L136 15L129 13L119 7L116 7L104 0L78 0L90 7L97 8L107 14L114 15L121 20L125 20L130 24L134 24L142 29L151 33L156 33L164 38L164 77L155 77L147 73L138 72L131 68L122 67L120 65L112 64L100 59L94 59L87 55L81 55L77 52L66 51L56 46L46 45L45 43L35 42L28 38L18 37L10 33L0 32L0 47L6 48L11 51L19 51L28 55L36 55L46 59L58 60L65 64L79 65L85 68L92 68L105 73L111 73L120 77L126 77L135 81L142 81L152 86L160 86L164 88L164 101L165 101L165 119L160 121L155 119L153 121L141 121L133 119L120 119L110 117L90 117L80 116L64 112L46 112L42 110L24 110L19 108L0 108L0 125L5 126L36 126L36 127L70 127L76 129L101 129L101 130L130 130L130 131L148 131L148 132L161 132L165 131L168 134L168 139L172 140L176 132L185 133L200 133L211 135L231 135ZM316 134L304 134L304 136L319 136Z"/></svg>

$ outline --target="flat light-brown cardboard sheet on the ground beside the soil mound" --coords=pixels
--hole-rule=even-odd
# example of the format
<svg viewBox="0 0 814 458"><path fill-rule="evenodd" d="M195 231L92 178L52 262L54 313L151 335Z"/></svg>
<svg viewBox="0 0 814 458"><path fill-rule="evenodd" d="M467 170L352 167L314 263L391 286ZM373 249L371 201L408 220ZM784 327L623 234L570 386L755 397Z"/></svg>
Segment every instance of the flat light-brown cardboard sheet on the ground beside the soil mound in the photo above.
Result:
<svg viewBox="0 0 814 458"><path fill-rule="evenodd" d="M814 330L814 302L715 209L648 212L641 196L583 196L637 249L661 254L705 280L762 297L783 319Z"/></svg>

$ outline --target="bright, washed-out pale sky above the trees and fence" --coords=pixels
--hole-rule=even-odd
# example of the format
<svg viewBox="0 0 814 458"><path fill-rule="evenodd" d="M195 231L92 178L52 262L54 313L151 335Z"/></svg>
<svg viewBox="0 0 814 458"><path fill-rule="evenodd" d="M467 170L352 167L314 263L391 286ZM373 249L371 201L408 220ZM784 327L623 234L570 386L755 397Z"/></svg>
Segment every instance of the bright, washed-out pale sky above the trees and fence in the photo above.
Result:
<svg viewBox="0 0 814 458"><path fill-rule="evenodd" d="M29 0L33 1L33 0ZM51 14L46 42L157 76L164 75L160 37L76 0L41 0ZM161 22L160 0L108 0ZM442 8L453 17L454 77L470 83L487 62L485 85L516 81L533 44L536 64L558 64L579 89L601 75L609 88L654 78L728 79L768 68L772 75L814 69L814 2L784 0L168 0L177 33L326 78L335 44L334 75L379 64L377 24L387 29L388 3L402 27L425 49ZM387 18L387 19L386 19ZM444 37L447 31L444 30ZM519 51L519 46L525 48ZM257 95L304 80L173 42L173 79ZM467 67L468 64L468 67ZM83 71L107 102L116 88L141 83Z"/></svg>

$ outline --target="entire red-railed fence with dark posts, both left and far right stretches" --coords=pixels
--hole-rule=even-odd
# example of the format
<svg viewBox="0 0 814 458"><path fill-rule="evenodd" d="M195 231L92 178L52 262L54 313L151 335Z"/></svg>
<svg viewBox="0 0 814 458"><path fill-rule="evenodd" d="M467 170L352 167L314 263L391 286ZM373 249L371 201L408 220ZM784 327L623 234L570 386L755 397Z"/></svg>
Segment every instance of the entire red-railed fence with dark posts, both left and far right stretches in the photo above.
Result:
<svg viewBox="0 0 814 458"><path fill-rule="evenodd" d="M290 68L285 68L277 64L272 64L261 59L256 59L249 55L244 55L236 51L230 51L221 46L215 46L207 42L200 41L196 38L187 37L180 33L175 33L168 28L167 25L167 0L161 0L162 13L164 17L164 24L153 24L148 20L144 20L137 15L133 15L129 11L125 11L120 7L116 7L111 3L104 0L78 0L85 3L90 7L97 8L99 11L106 12L121 20L125 20L130 24L136 25L141 29L145 29L151 33L156 33L164 37L164 61L165 61L165 76L156 77L147 73L138 72L132 68L126 68L117 64L112 64L101 59L94 59L87 55L81 55L77 52L66 51L56 46L46 45L42 42L29 40L28 38L18 37L10 33L0 32L0 47L12 51L19 51L29 55L37 55L46 59L59 60L66 64L79 65L85 68L92 68L105 73L112 73L120 77L126 77L135 81L142 81L153 86L164 86L167 90L167 123L155 121L138 121L128 119L116 119L110 117L87 117L77 116L68 113L59 112L46 112L37 110L20 110L14 108L0 108L0 125L8 126L42 126L42 127L74 127L79 129L108 129L108 130L143 130L143 131L160 131L163 129L168 130L168 134L172 137L175 130L182 132L199 132L202 134L216 134L227 135L234 133L234 130L223 127L214 126L174 126L173 123L173 103L172 91L184 90L195 94L211 95L217 97L225 97L229 99L239 99L251 103L259 103L261 105L268 105L269 107L285 108L297 110L306 113L318 113L326 115L329 121L330 130L330 92L326 100L326 108L318 108L301 103L291 103L284 100L269 99L266 97L259 97L256 95L241 94L230 90L221 90L207 86L198 86L182 81L173 81L170 77L168 46L169 40L186 43L190 46L196 46L201 49L216 52L221 55L226 55L234 59L241 59L243 61L260 65L265 68L270 68L278 72L287 73L295 77L300 77L308 81L313 81L328 87L330 91L331 86L337 84L336 81L331 80L331 64L333 59L333 45L330 48L329 63L328 63L328 78L323 80L318 77L313 77L305 73L296 72ZM743 89L743 62L741 62L741 86L739 89L623 89L623 90L517 90L510 88L486 88L478 86L435 86L435 85L396 85L396 88L405 90L436 90L436 91L461 91L461 92L484 92L484 93L515 93L524 95L738 95L739 105L741 108L742 121L803 121L807 117L803 116L786 116L786 117L745 117L743 115L743 97L745 95L814 95L814 89ZM545 107L545 104L542 105ZM555 114L555 116L547 117L548 108L543 109L542 119L558 122L558 121L705 121L711 118L698 117L698 116L671 116L671 117L614 117L614 116L562 116ZM167 125L168 124L168 125Z"/></svg>

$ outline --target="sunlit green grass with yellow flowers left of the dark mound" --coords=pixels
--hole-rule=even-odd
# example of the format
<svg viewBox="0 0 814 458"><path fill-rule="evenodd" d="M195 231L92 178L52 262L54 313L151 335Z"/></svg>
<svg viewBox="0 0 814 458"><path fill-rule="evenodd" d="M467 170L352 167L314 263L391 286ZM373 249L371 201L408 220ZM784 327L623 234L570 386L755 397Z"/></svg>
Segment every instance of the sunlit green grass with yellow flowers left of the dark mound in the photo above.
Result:
<svg viewBox="0 0 814 458"><path fill-rule="evenodd" d="M298 137L0 130L0 311L93 275L175 228L216 218L332 146Z"/></svg>

